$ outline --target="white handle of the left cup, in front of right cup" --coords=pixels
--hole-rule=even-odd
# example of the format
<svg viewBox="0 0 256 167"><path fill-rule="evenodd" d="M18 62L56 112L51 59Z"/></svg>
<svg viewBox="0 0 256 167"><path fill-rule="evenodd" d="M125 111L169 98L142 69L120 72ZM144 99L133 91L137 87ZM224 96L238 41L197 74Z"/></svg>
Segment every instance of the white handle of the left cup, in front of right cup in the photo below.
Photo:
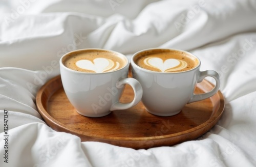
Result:
<svg viewBox="0 0 256 167"><path fill-rule="evenodd" d="M121 89L125 84L130 85L133 88L134 91L134 99L130 103L120 103L119 101L112 104L110 110L117 110L117 109L127 109L135 106L138 104L142 98L142 87L140 85L140 82L134 78L124 78L116 83L116 88Z"/></svg>

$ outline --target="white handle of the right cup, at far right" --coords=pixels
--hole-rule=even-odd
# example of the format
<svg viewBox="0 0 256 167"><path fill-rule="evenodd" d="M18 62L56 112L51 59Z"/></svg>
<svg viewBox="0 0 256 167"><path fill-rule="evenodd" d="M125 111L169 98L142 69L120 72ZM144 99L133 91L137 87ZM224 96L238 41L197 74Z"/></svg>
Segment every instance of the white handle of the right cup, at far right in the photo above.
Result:
<svg viewBox="0 0 256 167"><path fill-rule="evenodd" d="M207 99L207 98L213 96L214 94L216 94L218 92L218 90L220 88L220 76L219 76L219 74L214 70L201 71L197 82L199 83L199 82L203 81L203 79L206 76L213 77L216 80L216 85L215 85L214 89L212 89L210 92L207 92L207 93L194 94L191 97L191 99L188 101L188 103Z"/></svg>

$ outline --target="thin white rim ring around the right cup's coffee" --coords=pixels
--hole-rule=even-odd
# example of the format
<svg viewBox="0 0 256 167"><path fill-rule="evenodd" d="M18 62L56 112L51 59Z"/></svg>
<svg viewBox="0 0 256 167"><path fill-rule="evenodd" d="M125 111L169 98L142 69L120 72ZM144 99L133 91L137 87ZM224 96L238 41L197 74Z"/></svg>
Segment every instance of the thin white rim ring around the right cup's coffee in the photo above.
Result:
<svg viewBox="0 0 256 167"><path fill-rule="evenodd" d="M139 53L144 52L144 51L157 50L157 49L158 49L158 50L175 50L175 51L185 52L185 53L187 53L187 54L189 54L189 55L195 57L195 58L198 60L198 65L197 65L196 67L194 67L193 69L190 69L190 70L187 70L187 71L180 71L180 72L159 72L159 71L152 71L152 70L144 69L144 68L138 66L138 65L134 62L134 58L135 58L136 55L138 55ZM196 69L198 69L198 68L200 67L201 61L200 61L200 59L199 59L196 55L194 55L194 54L192 54L192 53L190 53L190 52L188 52L188 51L181 50L181 49L174 49L174 48L161 48L161 47L159 47L159 48L148 48L148 49L143 49L143 50L137 51L136 53L133 54L133 56L132 56L132 58L131 58L131 64L132 64L133 66L136 66L137 68L139 68L140 70L142 70L142 71L144 71L144 72L151 72L151 73L158 73L158 74L166 74L166 75L169 75L169 74L180 74L180 73L186 73L186 72L194 71L194 70L196 70Z"/></svg>

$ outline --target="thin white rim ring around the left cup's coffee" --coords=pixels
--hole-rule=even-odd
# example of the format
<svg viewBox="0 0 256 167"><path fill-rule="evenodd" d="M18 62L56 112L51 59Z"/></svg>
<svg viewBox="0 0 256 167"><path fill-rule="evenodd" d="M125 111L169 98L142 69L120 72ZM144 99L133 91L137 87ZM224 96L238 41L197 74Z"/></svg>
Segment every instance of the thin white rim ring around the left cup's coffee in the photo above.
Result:
<svg viewBox="0 0 256 167"><path fill-rule="evenodd" d="M72 69L66 67L65 65L63 65L62 60L63 60L64 57L66 57L66 55L71 54L71 53L73 53L73 52L77 52L77 51L88 51L88 50L101 50L101 51L108 51L108 52L116 53L118 56L121 56L121 57L123 57L123 58L125 59L126 64L125 64L122 68L120 68L120 69L118 69L118 70L109 71L109 72L100 72L100 73L76 71L76 70L72 70ZM120 70L124 69L125 67L129 66L129 65L130 65L130 62L129 62L129 59L128 59L124 54L122 54L122 53L120 53L120 52L117 52L117 51L114 51L114 50L101 49L101 48L84 48L84 49L72 50L72 51L70 51L70 52L67 52L67 53L63 54L63 55L61 56L60 60L59 60L59 65L60 65L62 68L66 69L66 70L68 70L68 71L70 71L70 72L73 72L73 73L77 73L77 74L90 74L90 75L99 75L99 74L107 74L107 73L114 73L114 72L120 71Z"/></svg>

